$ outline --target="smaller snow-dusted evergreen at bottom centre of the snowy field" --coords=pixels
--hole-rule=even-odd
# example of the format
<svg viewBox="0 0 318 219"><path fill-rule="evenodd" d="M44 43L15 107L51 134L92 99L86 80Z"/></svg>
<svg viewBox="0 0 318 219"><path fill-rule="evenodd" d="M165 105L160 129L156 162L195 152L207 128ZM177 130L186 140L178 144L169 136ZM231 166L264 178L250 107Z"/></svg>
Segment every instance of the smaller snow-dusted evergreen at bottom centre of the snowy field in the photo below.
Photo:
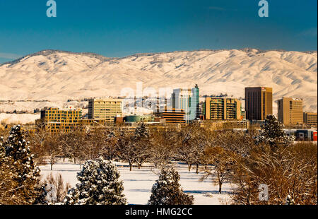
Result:
<svg viewBox="0 0 318 219"><path fill-rule="evenodd" d="M176 170L161 170L159 179L153 184L149 205L192 205L194 197L180 188Z"/></svg>

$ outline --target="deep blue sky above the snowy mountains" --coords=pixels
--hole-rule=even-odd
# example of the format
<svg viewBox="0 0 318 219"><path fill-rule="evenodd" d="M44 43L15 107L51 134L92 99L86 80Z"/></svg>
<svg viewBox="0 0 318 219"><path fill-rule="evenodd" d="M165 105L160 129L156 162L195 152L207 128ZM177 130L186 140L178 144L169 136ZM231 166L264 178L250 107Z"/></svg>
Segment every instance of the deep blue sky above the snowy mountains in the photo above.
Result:
<svg viewBox="0 0 318 219"><path fill-rule="evenodd" d="M317 50L317 0L0 0L0 63L42 49L124 57L194 49Z"/></svg>

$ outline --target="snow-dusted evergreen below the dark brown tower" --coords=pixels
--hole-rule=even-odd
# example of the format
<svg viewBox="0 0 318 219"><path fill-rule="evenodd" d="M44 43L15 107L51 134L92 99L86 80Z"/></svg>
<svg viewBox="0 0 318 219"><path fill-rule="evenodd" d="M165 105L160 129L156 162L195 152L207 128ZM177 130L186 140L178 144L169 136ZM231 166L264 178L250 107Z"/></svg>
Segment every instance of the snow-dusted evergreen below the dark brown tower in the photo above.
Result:
<svg viewBox="0 0 318 219"><path fill-rule="evenodd" d="M267 115L264 124L261 125L261 133L255 138L255 143L267 143L271 148L278 145L288 146L295 138L287 136L283 131L284 125L274 115Z"/></svg>

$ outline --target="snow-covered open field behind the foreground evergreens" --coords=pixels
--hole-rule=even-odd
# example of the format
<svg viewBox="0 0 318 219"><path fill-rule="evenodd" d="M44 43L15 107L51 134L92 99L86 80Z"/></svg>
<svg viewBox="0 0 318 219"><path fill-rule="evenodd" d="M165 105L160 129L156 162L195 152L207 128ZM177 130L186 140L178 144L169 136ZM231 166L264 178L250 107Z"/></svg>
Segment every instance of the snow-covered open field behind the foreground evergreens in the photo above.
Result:
<svg viewBox="0 0 318 219"><path fill-rule="evenodd" d="M120 172L120 178L124 181L124 194L129 204L147 204L151 196L151 188L158 179L158 170L153 169L150 164L145 164L138 170L134 167L129 171L129 165L122 162L115 162ZM60 173L64 182L69 182L71 186L78 183L77 172L80 171L79 165L71 163L57 163L50 170L49 165L40 166L42 179L52 172L53 175ZM195 169L191 172L187 170L187 165L176 163L175 169L180 174L180 184L182 189L194 196L196 205L218 205L230 202L229 194L232 192L232 185L224 183L222 194L218 194L218 185L212 182L211 177L200 181L203 172L196 174Z"/></svg>

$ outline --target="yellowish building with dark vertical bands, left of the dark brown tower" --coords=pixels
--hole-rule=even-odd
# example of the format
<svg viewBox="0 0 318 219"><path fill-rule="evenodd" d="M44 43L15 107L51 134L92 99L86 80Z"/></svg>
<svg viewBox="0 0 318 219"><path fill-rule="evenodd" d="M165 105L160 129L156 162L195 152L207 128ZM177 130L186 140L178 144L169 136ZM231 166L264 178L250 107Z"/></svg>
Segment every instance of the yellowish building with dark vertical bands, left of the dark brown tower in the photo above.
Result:
<svg viewBox="0 0 318 219"><path fill-rule="evenodd" d="M240 120L241 102L235 98L206 97L206 120Z"/></svg>

